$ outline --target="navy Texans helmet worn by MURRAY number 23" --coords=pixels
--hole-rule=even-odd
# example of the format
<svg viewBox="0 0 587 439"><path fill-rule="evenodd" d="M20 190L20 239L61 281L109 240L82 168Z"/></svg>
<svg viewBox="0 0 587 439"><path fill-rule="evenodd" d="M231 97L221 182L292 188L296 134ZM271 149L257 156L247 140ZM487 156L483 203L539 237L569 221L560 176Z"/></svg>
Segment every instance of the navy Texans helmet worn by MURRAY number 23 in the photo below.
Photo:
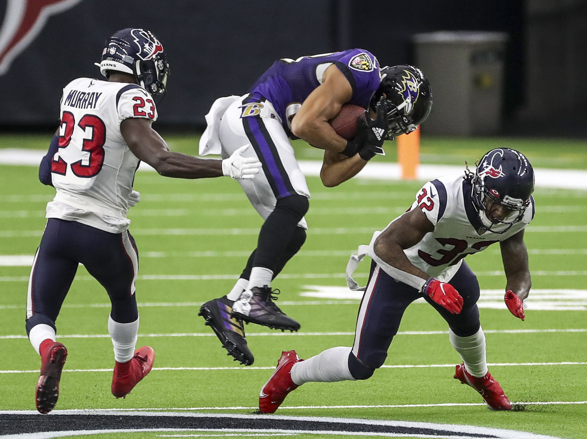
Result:
<svg viewBox="0 0 587 439"><path fill-rule="evenodd" d="M130 73L141 87L151 94L166 92L169 64L163 45L151 33L140 28L127 28L114 33L106 40L102 51L100 73Z"/></svg>

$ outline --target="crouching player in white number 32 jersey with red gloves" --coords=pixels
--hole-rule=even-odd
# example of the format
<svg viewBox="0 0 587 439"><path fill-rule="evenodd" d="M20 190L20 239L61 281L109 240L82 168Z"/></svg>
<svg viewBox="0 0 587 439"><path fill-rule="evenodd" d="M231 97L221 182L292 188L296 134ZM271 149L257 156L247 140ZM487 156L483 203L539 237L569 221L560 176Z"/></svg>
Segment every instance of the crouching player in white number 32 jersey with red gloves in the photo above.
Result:
<svg viewBox="0 0 587 439"><path fill-rule="evenodd" d="M274 413L286 395L309 381L365 380L381 367L404 310L423 297L448 323L450 342L463 363L454 378L477 390L495 410L511 410L500 384L487 369L485 336L479 321L477 277L467 255L500 243L505 305L524 320L522 300L531 286L524 229L534 218L534 171L518 151L489 151L475 173L426 183L409 211L375 232L347 267L352 273L365 255L373 261L360 304L352 347L333 347L301 361L283 352L261 388L259 410Z"/></svg>

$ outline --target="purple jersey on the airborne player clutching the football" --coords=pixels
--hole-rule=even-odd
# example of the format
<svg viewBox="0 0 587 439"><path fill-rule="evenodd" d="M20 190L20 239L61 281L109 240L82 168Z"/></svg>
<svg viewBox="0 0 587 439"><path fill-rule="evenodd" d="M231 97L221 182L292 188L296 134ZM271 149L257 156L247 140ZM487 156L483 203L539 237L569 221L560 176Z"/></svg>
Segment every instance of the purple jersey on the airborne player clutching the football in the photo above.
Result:
<svg viewBox="0 0 587 439"><path fill-rule="evenodd" d="M338 67L353 89L348 102L365 109L379 87L379 62L372 53L363 49L302 56L298 59L279 59L249 89L254 96L265 97L275 107L284 127L287 116L292 116L312 90L322 82L322 75L330 65ZM288 110L288 106L292 109Z"/></svg>

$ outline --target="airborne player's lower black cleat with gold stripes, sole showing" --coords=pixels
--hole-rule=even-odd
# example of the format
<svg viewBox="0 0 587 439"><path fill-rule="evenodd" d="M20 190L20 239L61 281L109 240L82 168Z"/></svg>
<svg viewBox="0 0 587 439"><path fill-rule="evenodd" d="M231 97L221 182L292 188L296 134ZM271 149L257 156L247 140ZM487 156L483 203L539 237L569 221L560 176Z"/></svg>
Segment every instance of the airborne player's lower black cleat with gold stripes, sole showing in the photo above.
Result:
<svg viewBox="0 0 587 439"><path fill-rule="evenodd" d="M233 303L227 296L209 300L201 306L198 316L202 316L206 325L214 330L228 355L232 355L235 361L245 366L251 366L255 357L247 346L242 320L231 317Z"/></svg>

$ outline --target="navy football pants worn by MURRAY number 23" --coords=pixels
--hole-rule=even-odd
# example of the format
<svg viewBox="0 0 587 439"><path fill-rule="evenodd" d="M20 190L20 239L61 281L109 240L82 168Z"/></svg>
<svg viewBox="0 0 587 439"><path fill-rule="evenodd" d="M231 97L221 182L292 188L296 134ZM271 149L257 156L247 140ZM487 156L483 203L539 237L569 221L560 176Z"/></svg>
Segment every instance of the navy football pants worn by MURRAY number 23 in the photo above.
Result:
<svg viewBox="0 0 587 439"><path fill-rule="evenodd" d="M134 295L139 252L130 233L115 234L76 221L49 218L29 279L27 334L40 323L55 329L78 264L106 289L115 322L130 323L139 317Z"/></svg>

